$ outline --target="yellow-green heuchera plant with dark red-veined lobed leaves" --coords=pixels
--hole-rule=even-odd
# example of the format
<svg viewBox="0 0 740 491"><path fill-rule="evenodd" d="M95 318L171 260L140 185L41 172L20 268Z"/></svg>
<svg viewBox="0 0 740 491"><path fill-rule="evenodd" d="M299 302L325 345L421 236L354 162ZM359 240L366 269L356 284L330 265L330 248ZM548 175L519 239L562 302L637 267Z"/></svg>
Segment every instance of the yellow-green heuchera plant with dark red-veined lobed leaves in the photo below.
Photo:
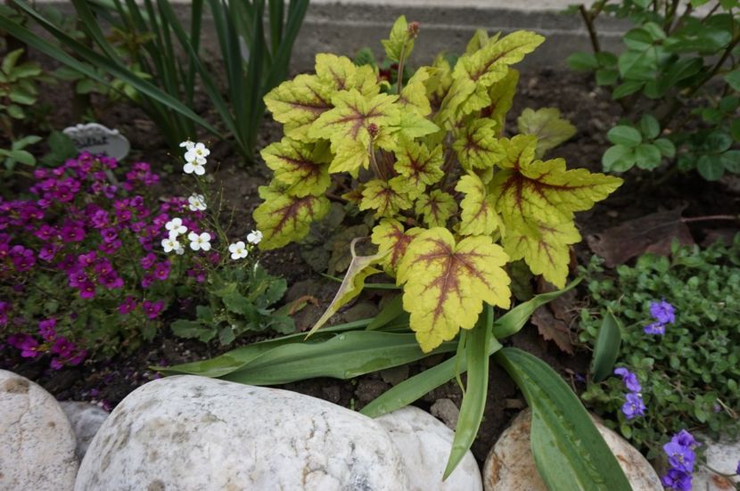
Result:
<svg viewBox="0 0 740 491"><path fill-rule="evenodd" d="M399 67L417 30L400 18L383 41ZM484 302L511 306L511 261L523 259L563 287L569 246L580 241L574 212L603 200L621 180L540 160L552 142L540 140L543 126L526 118L520 127L534 134L505 136L519 78L510 66L543 40L526 31L500 38L481 31L454 67L439 56L406 86L383 84L369 65L318 54L315 74L265 98L285 136L262 151L275 176L259 189L260 247L300 240L330 209L327 194L341 192L374 214L378 254L355 258L332 308L382 266L404 287L403 307L424 351L472 329Z"/></svg>

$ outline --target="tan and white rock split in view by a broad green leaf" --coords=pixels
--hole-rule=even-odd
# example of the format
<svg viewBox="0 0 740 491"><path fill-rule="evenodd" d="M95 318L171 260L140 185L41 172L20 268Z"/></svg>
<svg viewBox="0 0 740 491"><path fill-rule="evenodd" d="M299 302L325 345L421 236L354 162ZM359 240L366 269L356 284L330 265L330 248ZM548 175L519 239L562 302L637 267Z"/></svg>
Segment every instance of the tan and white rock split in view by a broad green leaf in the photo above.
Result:
<svg viewBox="0 0 740 491"><path fill-rule="evenodd" d="M547 491L530 450L531 412L525 409L498 438L483 464L486 491ZM596 422L596 428L620 462L633 491L662 491L649 462L624 438Z"/></svg>

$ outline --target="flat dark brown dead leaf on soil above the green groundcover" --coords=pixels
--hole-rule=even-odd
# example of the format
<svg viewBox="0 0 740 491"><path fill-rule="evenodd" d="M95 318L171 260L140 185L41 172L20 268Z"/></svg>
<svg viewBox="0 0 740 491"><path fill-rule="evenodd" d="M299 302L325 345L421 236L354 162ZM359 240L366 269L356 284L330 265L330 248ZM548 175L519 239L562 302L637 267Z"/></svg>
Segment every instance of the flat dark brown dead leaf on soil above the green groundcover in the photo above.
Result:
<svg viewBox="0 0 740 491"><path fill-rule="evenodd" d="M629 220L603 233L589 235L588 247L604 258L606 266L614 267L629 259L654 252L670 254L670 243L678 239L681 245L694 245L694 238L681 220L684 208L671 209Z"/></svg>

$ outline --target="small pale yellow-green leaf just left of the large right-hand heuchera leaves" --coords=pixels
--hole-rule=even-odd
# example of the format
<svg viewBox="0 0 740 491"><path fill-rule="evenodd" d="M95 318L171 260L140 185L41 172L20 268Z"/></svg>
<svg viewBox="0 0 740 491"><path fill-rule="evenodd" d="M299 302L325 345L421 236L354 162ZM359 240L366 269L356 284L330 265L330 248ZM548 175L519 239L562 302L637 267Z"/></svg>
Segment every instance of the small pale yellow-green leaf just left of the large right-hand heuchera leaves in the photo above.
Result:
<svg viewBox="0 0 740 491"><path fill-rule="evenodd" d="M496 212L496 197L489 194L479 176L462 176L455 191L465 194L460 202L463 209L460 215L461 235L490 235L501 227L501 219Z"/></svg>

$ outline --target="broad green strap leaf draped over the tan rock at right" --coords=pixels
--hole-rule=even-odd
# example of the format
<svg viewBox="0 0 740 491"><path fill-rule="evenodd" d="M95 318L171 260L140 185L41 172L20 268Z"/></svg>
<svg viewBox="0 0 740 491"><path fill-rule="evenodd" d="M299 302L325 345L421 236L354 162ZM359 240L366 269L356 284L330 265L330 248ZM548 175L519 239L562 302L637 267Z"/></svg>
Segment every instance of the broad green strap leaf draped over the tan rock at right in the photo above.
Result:
<svg viewBox="0 0 740 491"><path fill-rule="evenodd" d="M631 489L588 412L560 375L520 349L502 348L495 356L531 407L532 455L548 489Z"/></svg>

